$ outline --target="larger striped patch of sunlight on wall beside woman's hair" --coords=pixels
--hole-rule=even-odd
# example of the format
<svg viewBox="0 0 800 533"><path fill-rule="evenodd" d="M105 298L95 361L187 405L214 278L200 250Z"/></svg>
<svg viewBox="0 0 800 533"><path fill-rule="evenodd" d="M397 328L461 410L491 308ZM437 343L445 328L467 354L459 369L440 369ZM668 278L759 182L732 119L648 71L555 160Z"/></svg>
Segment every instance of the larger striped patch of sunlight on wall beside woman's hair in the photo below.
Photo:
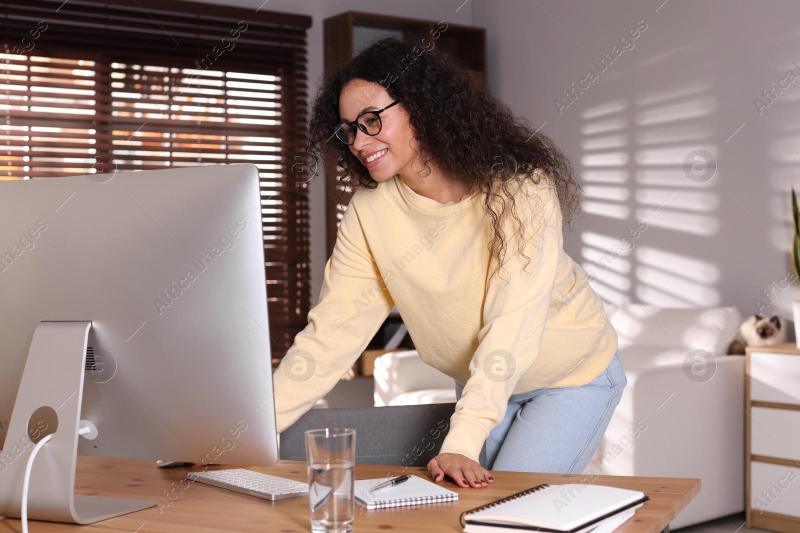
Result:
<svg viewBox="0 0 800 533"><path fill-rule="evenodd" d="M682 239L709 238L720 229L719 176L704 180L703 170L711 167L692 165L709 161L690 157L696 150L717 157L719 149L712 139L714 79L701 66L686 70L696 64L695 48L670 50L640 62L632 75L620 73L606 91L614 97L582 112L584 211L593 229L609 230L581 233L582 266L596 276L591 286L607 303L720 302L716 265L687 257L680 246ZM667 86L665 72L674 74Z"/></svg>

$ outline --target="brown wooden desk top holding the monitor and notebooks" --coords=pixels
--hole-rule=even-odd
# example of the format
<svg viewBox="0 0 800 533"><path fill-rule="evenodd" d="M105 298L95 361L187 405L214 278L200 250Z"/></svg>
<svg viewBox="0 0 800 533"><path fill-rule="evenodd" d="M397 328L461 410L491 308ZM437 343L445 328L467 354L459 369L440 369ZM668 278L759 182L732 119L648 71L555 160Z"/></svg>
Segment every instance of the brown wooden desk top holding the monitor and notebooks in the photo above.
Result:
<svg viewBox="0 0 800 533"><path fill-rule="evenodd" d="M226 467L210 467L222 469ZM253 468L269 474L306 481L306 463L279 461L274 467ZM257 533L303 533L310 531L308 497L270 502L253 496L225 491L204 483L182 481L187 471L200 468L158 469L154 461L78 457L75 492L124 498L156 499L151 507L88 526L30 521L30 531L108 531L147 533L164 531L254 531ZM400 475L401 469L357 465L356 479ZM408 468L405 473L427 476L424 468ZM458 491L457 502L394 507L366 511L356 504L356 533L414 531L438 533L462 531L458 515L494 499L533 487L538 483L588 483L585 475L528 474L493 472L489 487L461 488L442 483ZM634 478L598 475L596 484L644 491L650 501L617 530L618 533L659 533L670 520L700 492L700 479ZM0 532L21 530L18 519L0 519Z"/></svg>

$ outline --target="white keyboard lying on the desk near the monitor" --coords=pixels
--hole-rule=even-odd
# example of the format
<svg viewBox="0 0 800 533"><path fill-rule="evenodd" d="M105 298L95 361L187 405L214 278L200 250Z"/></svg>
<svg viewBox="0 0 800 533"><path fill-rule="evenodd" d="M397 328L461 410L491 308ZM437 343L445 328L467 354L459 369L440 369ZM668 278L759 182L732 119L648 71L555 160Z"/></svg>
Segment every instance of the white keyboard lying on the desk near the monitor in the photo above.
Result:
<svg viewBox="0 0 800 533"><path fill-rule="evenodd" d="M276 500L308 495L308 483L262 474L246 468L189 472L186 474L186 479L263 499Z"/></svg>

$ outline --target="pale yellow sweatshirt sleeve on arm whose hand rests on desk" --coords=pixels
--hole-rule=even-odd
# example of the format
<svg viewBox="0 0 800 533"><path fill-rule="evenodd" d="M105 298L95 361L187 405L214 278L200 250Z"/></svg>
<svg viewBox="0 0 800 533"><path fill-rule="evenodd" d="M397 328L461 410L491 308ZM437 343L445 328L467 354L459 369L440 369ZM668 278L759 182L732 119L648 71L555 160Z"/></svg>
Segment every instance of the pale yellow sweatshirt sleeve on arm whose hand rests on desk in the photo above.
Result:
<svg viewBox="0 0 800 533"><path fill-rule="evenodd" d="M562 216L552 186L529 180L520 191L524 193L514 195L515 211L525 225L526 239L521 247L518 222L504 215L506 260L486 285L484 325L470 360L470 377L442 443L441 453L475 461L489 432L505 416L518 381L539 355L563 245ZM530 257L530 264L521 252ZM489 272L495 266L493 257Z"/></svg>

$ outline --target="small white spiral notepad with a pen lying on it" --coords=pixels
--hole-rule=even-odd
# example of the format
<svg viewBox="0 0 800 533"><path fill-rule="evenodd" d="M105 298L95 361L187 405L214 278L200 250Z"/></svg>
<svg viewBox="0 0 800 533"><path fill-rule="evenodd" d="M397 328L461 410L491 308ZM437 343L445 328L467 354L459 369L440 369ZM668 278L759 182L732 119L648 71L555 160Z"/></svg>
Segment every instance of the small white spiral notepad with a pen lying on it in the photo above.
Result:
<svg viewBox="0 0 800 533"><path fill-rule="evenodd" d="M389 479L392 478L359 479L353 485L355 500L367 509L380 509L418 503L451 502L458 499L458 492L450 491L418 475L412 475L394 487L371 491L372 487Z"/></svg>

